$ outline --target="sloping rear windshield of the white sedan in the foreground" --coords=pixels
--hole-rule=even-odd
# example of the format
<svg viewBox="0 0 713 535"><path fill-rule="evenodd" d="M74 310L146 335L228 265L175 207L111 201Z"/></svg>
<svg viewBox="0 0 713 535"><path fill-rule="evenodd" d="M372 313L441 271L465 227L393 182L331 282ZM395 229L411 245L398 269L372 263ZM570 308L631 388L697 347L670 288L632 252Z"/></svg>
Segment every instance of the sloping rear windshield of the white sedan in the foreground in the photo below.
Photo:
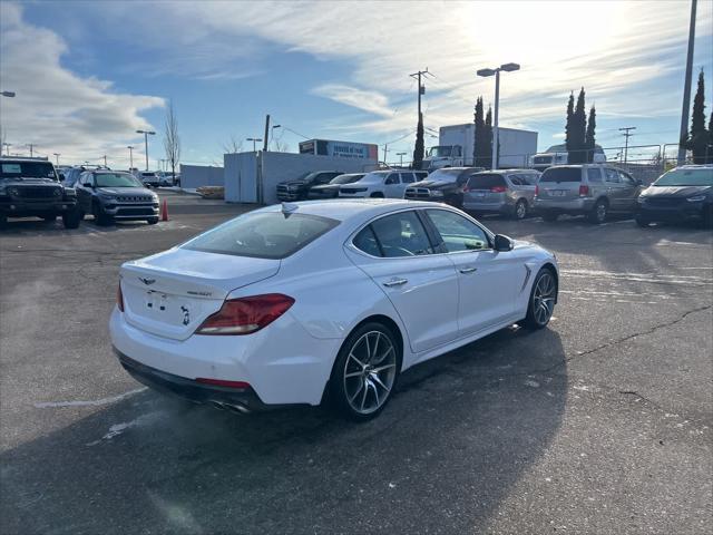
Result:
<svg viewBox="0 0 713 535"><path fill-rule="evenodd" d="M307 214L245 214L183 245L206 253L280 260L294 254L339 221Z"/></svg>

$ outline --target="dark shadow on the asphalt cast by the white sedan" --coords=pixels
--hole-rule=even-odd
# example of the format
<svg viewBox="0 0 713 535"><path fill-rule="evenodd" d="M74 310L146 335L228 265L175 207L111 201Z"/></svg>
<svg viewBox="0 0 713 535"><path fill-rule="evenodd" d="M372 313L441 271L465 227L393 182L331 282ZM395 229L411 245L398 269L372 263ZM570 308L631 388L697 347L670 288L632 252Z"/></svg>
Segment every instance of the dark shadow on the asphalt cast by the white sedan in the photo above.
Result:
<svg viewBox="0 0 713 535"><path fill-rule="evenodd" d="M557 434L566 392L558 333L517 328L404 372L361 425L143 390L2 454L0 528L480 532Z"/></svg>

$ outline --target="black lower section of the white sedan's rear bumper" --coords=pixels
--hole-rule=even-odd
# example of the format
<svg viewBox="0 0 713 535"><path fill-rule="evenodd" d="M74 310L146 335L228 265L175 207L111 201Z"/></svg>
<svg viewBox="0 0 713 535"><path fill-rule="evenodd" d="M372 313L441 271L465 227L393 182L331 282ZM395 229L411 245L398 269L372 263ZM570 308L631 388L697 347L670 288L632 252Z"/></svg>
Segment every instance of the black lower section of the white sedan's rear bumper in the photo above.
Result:
<svg viewBox="0 0 713 535"><path fill-rule="evenodd" d="M170 393L195 403L211 403L219 408L237 410L238 412L264 411L280 407L263 403L252 387L227 388L203 385L193 379L174 376L143 364L116 348L114 348L114 352L124 369L134 379L163 393Z"/></svg>

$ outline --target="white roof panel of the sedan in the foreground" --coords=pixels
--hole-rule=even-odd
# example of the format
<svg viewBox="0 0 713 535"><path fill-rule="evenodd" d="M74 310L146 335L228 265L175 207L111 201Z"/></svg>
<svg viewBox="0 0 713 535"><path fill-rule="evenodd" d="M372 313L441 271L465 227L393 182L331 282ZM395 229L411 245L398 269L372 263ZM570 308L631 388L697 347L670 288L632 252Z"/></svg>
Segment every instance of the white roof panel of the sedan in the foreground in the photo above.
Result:
<svg viewBox="0 0 713 535"><path fill-rule="evenodd" d="M273 204L256 212L282 212L283 205L293 214L319 215L345 222L370 220L400 208L433 208L437 204L402 198L333 198L329 201L301 201L297 203Z"/></svg>

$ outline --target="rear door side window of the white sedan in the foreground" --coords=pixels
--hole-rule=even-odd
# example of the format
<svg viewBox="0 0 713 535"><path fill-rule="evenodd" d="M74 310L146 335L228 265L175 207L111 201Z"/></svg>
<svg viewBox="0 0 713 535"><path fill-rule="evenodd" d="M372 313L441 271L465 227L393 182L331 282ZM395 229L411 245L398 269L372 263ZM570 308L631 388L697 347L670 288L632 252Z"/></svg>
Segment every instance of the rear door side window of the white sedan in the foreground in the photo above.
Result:
<svg viewBox="0 0 713 535"><path fill-rule="evenodd" d="M387 215L371 224L380 255L384 257L432 254L433 249L416 212Z"/></svg>

